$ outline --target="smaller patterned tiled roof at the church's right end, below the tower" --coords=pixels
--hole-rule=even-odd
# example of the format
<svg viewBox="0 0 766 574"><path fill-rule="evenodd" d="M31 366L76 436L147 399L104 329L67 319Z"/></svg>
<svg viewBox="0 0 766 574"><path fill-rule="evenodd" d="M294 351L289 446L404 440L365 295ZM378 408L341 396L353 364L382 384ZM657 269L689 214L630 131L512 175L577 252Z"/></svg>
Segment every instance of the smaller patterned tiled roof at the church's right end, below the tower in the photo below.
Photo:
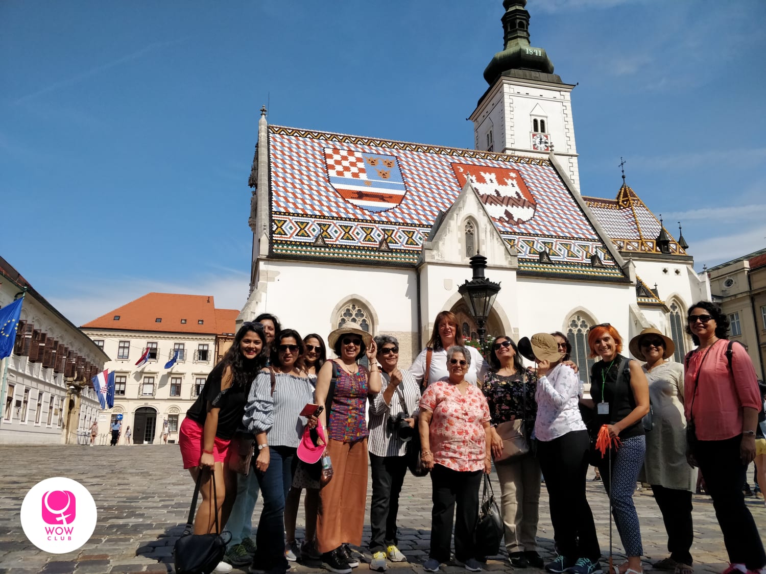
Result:
<svg viewBox="0 0 766 574"><path fill-rule="evenodd" d="M583 199L617 249L634 253L662 253L654 243L660 235L660 221L627 185L623 184L614 200L585 196ZM670 233L668 236L671 237L671 255L685 256L686 251Z"/></svg>

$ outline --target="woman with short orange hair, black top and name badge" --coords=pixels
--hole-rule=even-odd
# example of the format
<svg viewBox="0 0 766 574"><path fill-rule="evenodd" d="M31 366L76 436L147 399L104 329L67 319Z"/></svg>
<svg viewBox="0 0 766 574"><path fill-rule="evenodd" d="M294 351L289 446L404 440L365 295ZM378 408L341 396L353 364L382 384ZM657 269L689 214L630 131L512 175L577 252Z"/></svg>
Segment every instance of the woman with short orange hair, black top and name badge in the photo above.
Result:
<svg viewBox="0 0 766 574"><path fill-rule="evenodd" d="M593 398L583 402L595 408L595 429L606 425L611 439L619 439L619 447L605 455L598 468L627 556L627 563L620 565L618 572L640 574L643 547L633 492L647 449L641 419L649 413L649 383L638 361L620 354L622 342L617 329L608 323L588 331L591 357L601 360L591 370Z"/></svg>

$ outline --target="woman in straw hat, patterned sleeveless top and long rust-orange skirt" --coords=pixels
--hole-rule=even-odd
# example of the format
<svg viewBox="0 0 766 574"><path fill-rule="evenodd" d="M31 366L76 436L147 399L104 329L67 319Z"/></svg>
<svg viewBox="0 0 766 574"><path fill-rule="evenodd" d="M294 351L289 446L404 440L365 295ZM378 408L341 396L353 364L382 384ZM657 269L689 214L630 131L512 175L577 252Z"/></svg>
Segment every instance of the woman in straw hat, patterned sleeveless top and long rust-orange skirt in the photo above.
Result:
<svg viewBox="0 0 766 574"><path fill-rule="evenodd" d="M332 331L327 341L339 358L328 360L319 370L316 403L327 405L319 418L328 432L326 452L332 460L333 475L319 490L316 550L322 553L322 562L330 572L348 574L359 565L348 544L362 544L365 523L365 403L368 395L380 393L381 373L375 362L375 341L368 332L347 325ZM357 363L365 352L369 371Z"/></svg>

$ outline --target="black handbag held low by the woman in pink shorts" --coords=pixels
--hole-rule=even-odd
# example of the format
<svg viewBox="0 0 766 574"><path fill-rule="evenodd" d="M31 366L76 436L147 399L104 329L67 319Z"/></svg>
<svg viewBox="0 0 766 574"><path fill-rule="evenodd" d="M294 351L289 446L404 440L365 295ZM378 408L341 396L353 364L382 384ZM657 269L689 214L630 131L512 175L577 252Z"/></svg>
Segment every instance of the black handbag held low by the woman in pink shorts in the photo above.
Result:
<svg viewBox="0 0 766 574"><path fill-rule="evenodd" d="M173 546L173 563L177 574L211 574L226 553L226 545L231 540L231 533L221 534L221 528L218 526L218 512L215 513L215 532L214 534L192 534L194 528L194 514L197 509L197 497L202 475L210 472L210 478L213 481L213 503L218 508L218 497L215 494L215 473L202 469L197 477L197 484L194 489L194 496L191 497L191 508L189 517L186 521L181 537L175 541ZM224 538L225 536L225 538ZM227 540L228 539L228 540Z"/></svg>

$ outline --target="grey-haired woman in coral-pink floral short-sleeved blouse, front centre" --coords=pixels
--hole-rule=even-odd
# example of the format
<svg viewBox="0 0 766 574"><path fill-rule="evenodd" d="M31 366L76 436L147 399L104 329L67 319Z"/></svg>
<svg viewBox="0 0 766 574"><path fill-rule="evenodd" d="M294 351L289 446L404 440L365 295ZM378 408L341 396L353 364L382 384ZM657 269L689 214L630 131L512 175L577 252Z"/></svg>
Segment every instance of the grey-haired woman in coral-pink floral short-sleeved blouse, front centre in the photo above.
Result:
<svg viewBox="0 0 766 574"><path fill-rule="evenodd" d="M489 406L483 393L469 383L471 355L466 347L447 349L450 377L431 383L421 399L419 429L421 460L431 469L434 507L431 510L428 572L438 572L450 559L450 536L455 504L455 557L470 572L480 572L473 530L479 514L482 472L489 462ZM433 451L433 452L432 452Z"/></svg>

